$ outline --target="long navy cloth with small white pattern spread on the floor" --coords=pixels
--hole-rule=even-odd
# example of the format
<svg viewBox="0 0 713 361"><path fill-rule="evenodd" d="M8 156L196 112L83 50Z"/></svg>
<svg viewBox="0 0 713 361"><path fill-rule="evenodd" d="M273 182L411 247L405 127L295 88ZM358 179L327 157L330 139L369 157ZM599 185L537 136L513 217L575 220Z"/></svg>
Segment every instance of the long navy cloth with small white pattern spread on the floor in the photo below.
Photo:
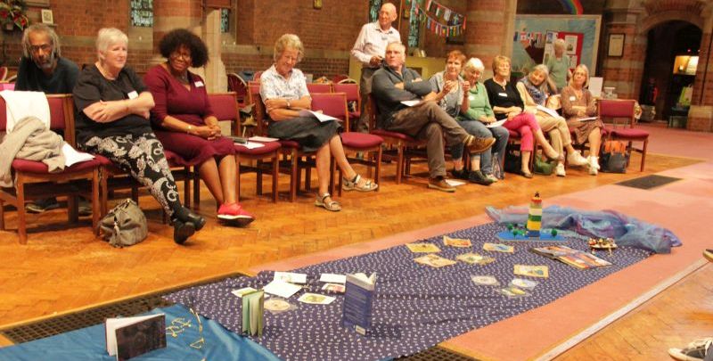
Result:
<svg viewBox="0 0 713 361"><path fill-rule="evenodd" d="M464 332L543 306L650 256L646 250L620 247L611 256L597 252L613 266L580 270L529 251L552 242L513 242L514 253L483 250L483 243L497 242L495 234L502 230L503 226L488 224L448 234L471 239L472 248L445 246L442 236L422 240L438 245L441 250L438 255L444 258L455 260L457 255L468 252L496 258L494 263L485 266L458 261L453 266L432 268L414 262L414 258L424 253L412 253L406 246L396 246L295 269L294 272L307 274L304 291L321 294L325 294L321 291L324 283L318 282L322 273L370 275L376 272L373 333L361 336L341 326L343 295L337 296L330 305L309 305L297 300L303 293L299 291L289 299L298 309L280 314L266 311L265 333L252 339L285 360L380 360L411 355ZM588 250L586 242L579 240L566 244ZM471 275L493 275L503 285L515 277L528 278L513 275L516 264L548 266L550 277L532 278L539 284L530 297L520 299L508 299L497 293L496 287L471 281ZM192 304L201 315L240 333L241 299L231 291L248 286L262 288L273 276L273 272L261 272L252 278L227 279L177 291L167 298Z"/></svg>

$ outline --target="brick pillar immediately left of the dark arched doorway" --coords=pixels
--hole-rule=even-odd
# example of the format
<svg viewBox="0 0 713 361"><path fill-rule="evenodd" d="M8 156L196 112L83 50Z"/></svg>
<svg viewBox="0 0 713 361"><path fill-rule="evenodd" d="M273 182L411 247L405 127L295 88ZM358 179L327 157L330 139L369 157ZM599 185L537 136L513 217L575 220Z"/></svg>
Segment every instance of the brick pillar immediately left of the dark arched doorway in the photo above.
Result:
<svg viewBox="0 0 713 361"><path fill-rule="evenodd" d="M646 34L640 34L640 14L643 8L635 1L612 0L604 9L602 37L604 57L602 77L604 86L614 86L619 98L638 99L646 59ZM620 58L607 55L610 34L624 34L624 54Z"/></svg>

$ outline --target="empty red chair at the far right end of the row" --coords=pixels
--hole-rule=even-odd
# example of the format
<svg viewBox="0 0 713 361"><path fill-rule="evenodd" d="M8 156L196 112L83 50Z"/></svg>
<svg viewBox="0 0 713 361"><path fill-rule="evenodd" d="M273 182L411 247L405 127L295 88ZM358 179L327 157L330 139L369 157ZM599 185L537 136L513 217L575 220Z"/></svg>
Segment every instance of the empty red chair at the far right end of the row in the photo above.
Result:
<svg viewBox="0 0 713 361"><path fill-rule="evenodd" d="M597 102L599 117L612 119L611 127L607 127L607 139L627 142L629 151L641 153L641 168L646 162L646 148L649 145L649 132L635 128L635 101L632 99L602 99ZM624 119L624 123L618 123L617 119ZM618 127L618 126L621 127ZM602 135L603 136L603 135ZM642 148L635 148L634 142L643 142Z"/></svg>

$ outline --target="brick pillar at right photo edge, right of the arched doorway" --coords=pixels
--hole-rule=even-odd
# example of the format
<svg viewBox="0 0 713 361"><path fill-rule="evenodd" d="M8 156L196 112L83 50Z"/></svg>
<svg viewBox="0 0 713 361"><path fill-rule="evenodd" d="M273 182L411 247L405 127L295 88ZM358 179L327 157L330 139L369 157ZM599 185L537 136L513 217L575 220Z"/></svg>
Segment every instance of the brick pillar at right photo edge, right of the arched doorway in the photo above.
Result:
<svg viewBox="0 0 713 361"><path fill-rule="evenodd" d="M709 15L703 25L701 52L699 53L696 78L693 80L693 97L688 111L688 130L713 132L713 16Z"/></svg>

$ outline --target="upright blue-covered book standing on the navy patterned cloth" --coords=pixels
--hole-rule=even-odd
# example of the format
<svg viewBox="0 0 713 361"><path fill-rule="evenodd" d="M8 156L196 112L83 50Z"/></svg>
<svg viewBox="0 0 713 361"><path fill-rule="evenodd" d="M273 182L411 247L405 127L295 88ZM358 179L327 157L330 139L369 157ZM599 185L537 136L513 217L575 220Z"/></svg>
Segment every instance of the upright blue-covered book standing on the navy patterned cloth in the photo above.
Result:
<svg viewBox="0 0 713 361"><path fill-rule="evenodd" d="M372 328L372 309L376 274L347 275L341 323L365 335Z"/></svg>

